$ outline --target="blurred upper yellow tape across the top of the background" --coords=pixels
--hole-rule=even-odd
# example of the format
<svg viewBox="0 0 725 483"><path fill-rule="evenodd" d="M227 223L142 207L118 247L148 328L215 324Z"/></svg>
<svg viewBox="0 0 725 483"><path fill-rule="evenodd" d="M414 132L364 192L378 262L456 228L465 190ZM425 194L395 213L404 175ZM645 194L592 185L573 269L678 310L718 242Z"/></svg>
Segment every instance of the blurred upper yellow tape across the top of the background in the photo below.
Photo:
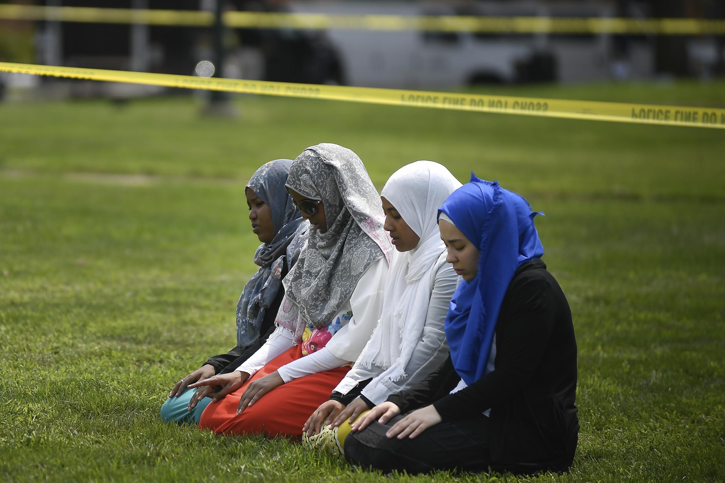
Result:
<svg viewBox="0 0 725 483"><path fill-rule="evenodd" d="M208 27L214 24L214 15L211 12L198 10L44 7L8 4L0 5L0 19L193 27ZM569 35L629 33L700 36L725 34L725 20L688 18L472 17L225 12L223 22L232 28L296 28L308 30L330 28L470 33L562 33Z"/></svg>

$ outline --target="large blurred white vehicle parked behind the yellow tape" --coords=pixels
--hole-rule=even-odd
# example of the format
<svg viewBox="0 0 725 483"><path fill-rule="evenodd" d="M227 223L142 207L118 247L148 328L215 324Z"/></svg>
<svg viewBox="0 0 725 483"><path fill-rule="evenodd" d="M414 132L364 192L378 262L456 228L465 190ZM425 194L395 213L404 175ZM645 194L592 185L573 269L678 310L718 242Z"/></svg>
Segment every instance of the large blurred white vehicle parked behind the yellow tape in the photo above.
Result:
<svg viewBox="0 0 725 483"><path fill-rule="evenodd" d="M288 12L330 15L616 16L613 2L605 1L291 0L283 5ZM611 77L614 60L613 36L606 34L500 35L330 29L323 35L338 57L340 73L330 75L331 82L351 86L424 89L476 83L602 80ZM651 41L641 40L628 44L627 74L631 78L653 73Z"/></svg>

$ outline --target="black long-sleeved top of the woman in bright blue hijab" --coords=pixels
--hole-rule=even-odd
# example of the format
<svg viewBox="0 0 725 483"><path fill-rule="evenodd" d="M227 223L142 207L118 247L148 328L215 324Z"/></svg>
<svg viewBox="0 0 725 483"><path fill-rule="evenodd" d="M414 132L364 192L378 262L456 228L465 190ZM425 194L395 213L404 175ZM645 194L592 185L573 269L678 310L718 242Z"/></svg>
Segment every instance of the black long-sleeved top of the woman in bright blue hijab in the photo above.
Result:
<svg viewBox="0 0 725 483"><path fill-rule="evenodd" d="M515 472L571 466L579 434L571 310L542 260L521 265L502 302L494 370L454 394L450 355L415 387L391 395L402 413L432 404L443 421L485 417L494 467Z"/></svg>

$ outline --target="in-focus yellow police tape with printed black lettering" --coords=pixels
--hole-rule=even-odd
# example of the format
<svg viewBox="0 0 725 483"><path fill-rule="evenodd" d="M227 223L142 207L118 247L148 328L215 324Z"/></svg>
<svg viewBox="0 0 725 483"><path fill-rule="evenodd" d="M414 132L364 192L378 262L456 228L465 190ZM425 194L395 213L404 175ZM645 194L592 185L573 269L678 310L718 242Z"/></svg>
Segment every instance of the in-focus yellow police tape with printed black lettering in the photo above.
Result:
<svg viewBox="0 0 725 483"><path fill-rule="evenodd" d="M12 64L9 62L0 62L1 71L151 86L203 89L207 91L238 92L241 94L331 99L369 104L433 107L446 110L497 112L500 114L564 117L581 120L605 120L618 123L687 125L698 128L725 129L725 109L708 107L533 99L529 97L268 82L265 80L199 78L193 75L138 73L125 70L83 69L78 67Z"/></svg>

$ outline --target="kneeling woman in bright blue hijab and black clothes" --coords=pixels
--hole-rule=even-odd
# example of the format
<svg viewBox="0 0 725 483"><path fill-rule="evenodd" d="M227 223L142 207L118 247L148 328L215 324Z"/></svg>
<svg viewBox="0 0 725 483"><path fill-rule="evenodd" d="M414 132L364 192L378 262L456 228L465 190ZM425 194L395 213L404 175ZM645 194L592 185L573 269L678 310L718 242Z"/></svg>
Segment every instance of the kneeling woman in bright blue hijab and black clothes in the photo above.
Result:
<svg viewBox="0 0 725 483"><path fill-rule="evenodd" d="M439 210L463 278L445 323L450 356L352 425L351 463L382 471L566 471L579 434L571 310L541 257L525 199L471 176Z"/></svg>

